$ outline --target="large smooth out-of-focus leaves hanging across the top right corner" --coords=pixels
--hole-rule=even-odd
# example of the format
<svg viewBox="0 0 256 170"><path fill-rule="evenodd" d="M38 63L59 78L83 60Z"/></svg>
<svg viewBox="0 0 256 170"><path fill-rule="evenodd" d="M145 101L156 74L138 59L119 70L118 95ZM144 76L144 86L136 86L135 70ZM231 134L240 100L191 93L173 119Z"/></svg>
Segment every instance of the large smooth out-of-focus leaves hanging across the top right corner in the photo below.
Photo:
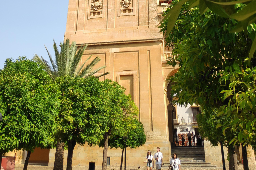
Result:
<svg viewBox="0 0 256 170"><path fill-rule="evenodd" d="M163 21L168 19L168 26L167 26L167 35L169 35L175 26L175 22L179 17L180 11L182 11L182 5L187 3L187 10L192 9L194 7L199 6L199 12L201 15L210 9L216 15L224 18L229 18L237 21L235 27L230 30L231 33L238 33L241 31L247 32L247 26L250 24L255 23L256 21L256 1L255 0L181 0L178 3L175 3L172 6L172 9L168 11L165 15ZM237 5L244 3L244 7L242 10L237 8ZM171 16L171 17L170 17ZM216 23L218 25L218 23ZM254 30L255 31L255 30ZM249 52L249 60L252 58L255 50L256 50L256 39L253 38L253 43L251 44L251 49Z"/></svg>

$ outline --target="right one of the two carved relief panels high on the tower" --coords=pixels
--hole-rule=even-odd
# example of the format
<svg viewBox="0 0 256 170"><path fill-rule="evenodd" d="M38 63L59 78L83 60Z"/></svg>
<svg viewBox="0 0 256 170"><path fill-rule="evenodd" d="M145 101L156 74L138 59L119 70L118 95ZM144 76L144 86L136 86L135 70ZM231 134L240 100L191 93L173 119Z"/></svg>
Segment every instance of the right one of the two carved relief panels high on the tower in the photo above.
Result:
<svg viewBox="0 0 256 170"><path fill-rule="evenodd" d="M125 15L135 15L135 2L134 0L119 0L118 17Z"/></svg>

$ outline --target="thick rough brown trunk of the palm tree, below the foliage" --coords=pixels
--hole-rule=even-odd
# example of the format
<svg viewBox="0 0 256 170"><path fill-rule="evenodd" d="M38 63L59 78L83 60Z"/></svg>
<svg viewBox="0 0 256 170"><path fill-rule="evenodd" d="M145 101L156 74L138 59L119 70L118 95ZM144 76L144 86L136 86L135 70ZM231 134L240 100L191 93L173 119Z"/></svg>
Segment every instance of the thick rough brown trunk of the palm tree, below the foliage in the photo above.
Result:
<svg viewBox="0 0 256 170"><path fill-rule="evenodd" d="M64 146L65 146L65 143L60 142L60 140L56 144L53 170L63 170Z"/></svg>

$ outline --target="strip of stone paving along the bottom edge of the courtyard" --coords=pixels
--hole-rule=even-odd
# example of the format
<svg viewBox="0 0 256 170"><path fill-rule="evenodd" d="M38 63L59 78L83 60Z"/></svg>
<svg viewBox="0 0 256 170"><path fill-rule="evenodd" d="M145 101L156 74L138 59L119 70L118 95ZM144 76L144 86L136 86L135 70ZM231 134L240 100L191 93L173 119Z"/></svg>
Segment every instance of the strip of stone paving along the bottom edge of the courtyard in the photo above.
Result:
<svg viewBox="0 0 256 170"><path fill-rule="evenodd" d="M15 170L23 170L24 164L16 164ZM123 168L124 169L124 168ZM147 170L146 167L141 167L138 169L137 167L129 167L126 168L127 170ZM167 170L167 167L162 168L162 170ZM207 168L207 170L220 170L222 168ZM27 170L53 170L53 166L39 166L39 165L28 165ZM66 166L64 166L63 170L66 170ZM88 170L88 166L73 166L72 170ZM101 167L96 167L96 170L101 170ZM107 167L107 170L119 170L119 168L109 168ZM153 170L156 170L155 168ZM181 170L205 170L205 168L182 168ZM228 170L228 167L226 167L226 170ZM238 166L238 170L243 170L243 165ZM249 170L255 170L255 166L249 166Z"/></svg>

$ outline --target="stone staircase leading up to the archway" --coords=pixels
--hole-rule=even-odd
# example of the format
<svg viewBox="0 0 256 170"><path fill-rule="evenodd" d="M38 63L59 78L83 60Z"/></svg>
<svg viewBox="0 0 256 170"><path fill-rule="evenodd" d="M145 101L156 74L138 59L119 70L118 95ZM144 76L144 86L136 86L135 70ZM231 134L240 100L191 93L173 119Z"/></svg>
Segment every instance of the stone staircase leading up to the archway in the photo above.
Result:
<svg viewBox="0 0 256 170"><path fill-rule="evenodd" d="M177 154L182 168L216 168L216 165L205 162L204 147L202 146L171 147L171 155L173 153ZM169 164L165 163L164 166L169 166Z"/></svg>

